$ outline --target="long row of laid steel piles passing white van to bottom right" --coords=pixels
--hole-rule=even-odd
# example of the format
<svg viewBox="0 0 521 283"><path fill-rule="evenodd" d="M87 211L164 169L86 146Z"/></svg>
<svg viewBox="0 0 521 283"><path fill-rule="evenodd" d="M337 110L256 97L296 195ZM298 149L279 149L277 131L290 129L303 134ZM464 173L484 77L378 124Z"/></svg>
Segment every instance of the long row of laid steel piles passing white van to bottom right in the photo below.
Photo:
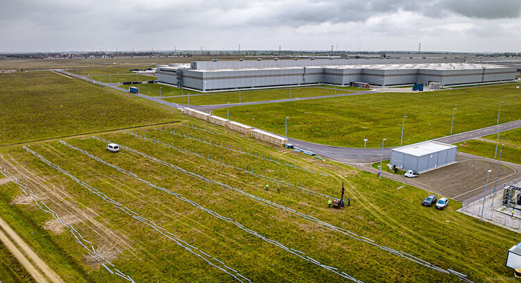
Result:
<svg viewBox="0 0 521 283"><path fill-rule="evenodd" d="M105 143L110 143L110 141L108 141L108 140L106 140L106 139L101 139L101 138L99 138L99 137L93 137L93 138L94 138L94 139L99 139L100 141L104 141ZM199 174L197 174L197 173L192 173L192 172L190 172L190 171L186 171L185 169L182 169L182 168L179 167L179 166L175 166L175 165L173 165L173 164L169 164L169 163L167 163L167 162L163 162L163 161L161 161L161 160L156 159L155 157L151 157L151 156L146 155L146 154L144 154L144 153L140 153L139 151L136 151L135 149L128 148L128 147L126 147L126 146L122 146L122 145L120 145L120 147L121 147L121 148L124 148L124 149L126 149L126 150L128 150L128 151L131 151L131 152L133 152L133 153L136 153L136 154L138 154L138 155L142 155L143 157L147 157L147 158L149 158L150 160L154 160L154 161L156 161L156 162L158 162L158 163L160 163L160 164L163 164L163 165L165 165L165 166L169 166L169 167L171 167L172 169L175 169L175 170L178 171L178 172L185 173L186 175L191 175L192 177L197 178L197 179L199 179L199 180L204 180L205 182L210 182L210 183L214 183L214 184L216 184L216 185L220 185L221 187L223 187L223 188L225 188L225 189L229 189L229 190L231 190L231 191L236 191L236 192L242 194L243 196L247 196L248 198L251 198L251 199L253 199L253 200L257 200L258 202L260 202L260 203L264 203L265 205L269 205L269 206L274 207L274 208L277 208L277 209L283 209L283 210L286 210L287 212L290 212L291 214L294 214L294 215L296 215L296 216L299 216L299 217L301 217L301 218L304 218L304 219L306 219L306 220L308 220L308 221L310 221L310 222L312 222L312 223L315 223L315 224L317 224L317 225L320 225L320 226L323 227L323 228L326 228L326 229L329 229L329 230L333 230L333 231L336 231L336 232L340 232L340 233L342 233L342 234L345 234L345 235L348 236L348 237L351 237L351 238L356 239L356 240L358 240L358 241L363 241L363 242L368 243L368 244L370 244L370 245L372 245L372 246L374 246L374 247L377 247L377 248L379 248L380 250L383 250L383 251L385 251L385 252L390 252L392 255L397 255L397 256L399 256L399 257L403 257L404 259L408 259L408 260L410 260L410 261L413 261L413 262L415 262L416 264L420 264L420 265L425 266L425 267L427 267L427 268L431 268L431 269L433 269L434 271L438 271L438 272L446 273L446 274L454 274L454 275L456 275L456 276L458 277L459 280L462 280L462 281L464 281L464 282L472 282L472 281L468 280L468 279L466 278L467 276L464 275L463 273L454 273L454 272L453 272L452 270L450 270L450 269L443 269L443 268L440 268L440 267L438 267L438 266L436 266L436 265L434 265L434 264L431 264L431 263L429 263L429 262L427 262L427 261L424 261L424 260L422 260L422 259L419 259L419 258L417 258L417 257L415 257L415 256L413 256L413 255L409 255L409 254L406 253L406 252L402 252L402 251L398 251L398 250L393 250L392 248L388 248L388 247L386 247L386 246L381 246L381 245L375 243L372 239L368 239L368 238L366 238L366 237L363 237L363 236L361 236L361 235L358 235L358 234L356 234L356 233L354 233L354 232L351 232L351 231L349 231L349 230L345 230L345 229L340 228L340 227L338 227L338 226L331 225L331 224L326 223L326 222L324 222L324 221L320 221L319 219L317 219L317 218L315 218L315 217L313 217L313 216L311 216L311 215L307 215L307 214L303 214L303 213L301 213L301 212L297 212L295 209L291 209L291 208L289 208L289 207L284 207L283 205L279 205L279 204L273 203L271 200L265 200L264 198L260 198L260 197L258 197L258 196L253 195L253 194L248 194L248 193L245 192L245 191L242 191L242 190L240 190L240 189L235 189L235 188L233 188L233 187L231 187L231 186L229 186L229 185L223 184L222 182L218 182L218 181L215 181L215 180L211 180L211 179L205 178L205 177L203 177L202 175L199 175Z"/></svg>

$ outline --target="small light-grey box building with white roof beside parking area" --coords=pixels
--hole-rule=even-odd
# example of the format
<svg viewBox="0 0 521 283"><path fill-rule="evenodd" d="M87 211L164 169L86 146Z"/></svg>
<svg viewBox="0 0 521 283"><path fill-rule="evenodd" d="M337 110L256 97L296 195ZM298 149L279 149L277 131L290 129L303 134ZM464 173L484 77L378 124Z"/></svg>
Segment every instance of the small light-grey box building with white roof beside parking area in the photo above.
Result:
<svg viewBox="0 0 521 283"><path fill-rule="evenodd" d="M390 165L395 165L402 170L415 170L423 173L455 163L457 149L457 146L438 141L424 141L392 148Z"/></svg>

